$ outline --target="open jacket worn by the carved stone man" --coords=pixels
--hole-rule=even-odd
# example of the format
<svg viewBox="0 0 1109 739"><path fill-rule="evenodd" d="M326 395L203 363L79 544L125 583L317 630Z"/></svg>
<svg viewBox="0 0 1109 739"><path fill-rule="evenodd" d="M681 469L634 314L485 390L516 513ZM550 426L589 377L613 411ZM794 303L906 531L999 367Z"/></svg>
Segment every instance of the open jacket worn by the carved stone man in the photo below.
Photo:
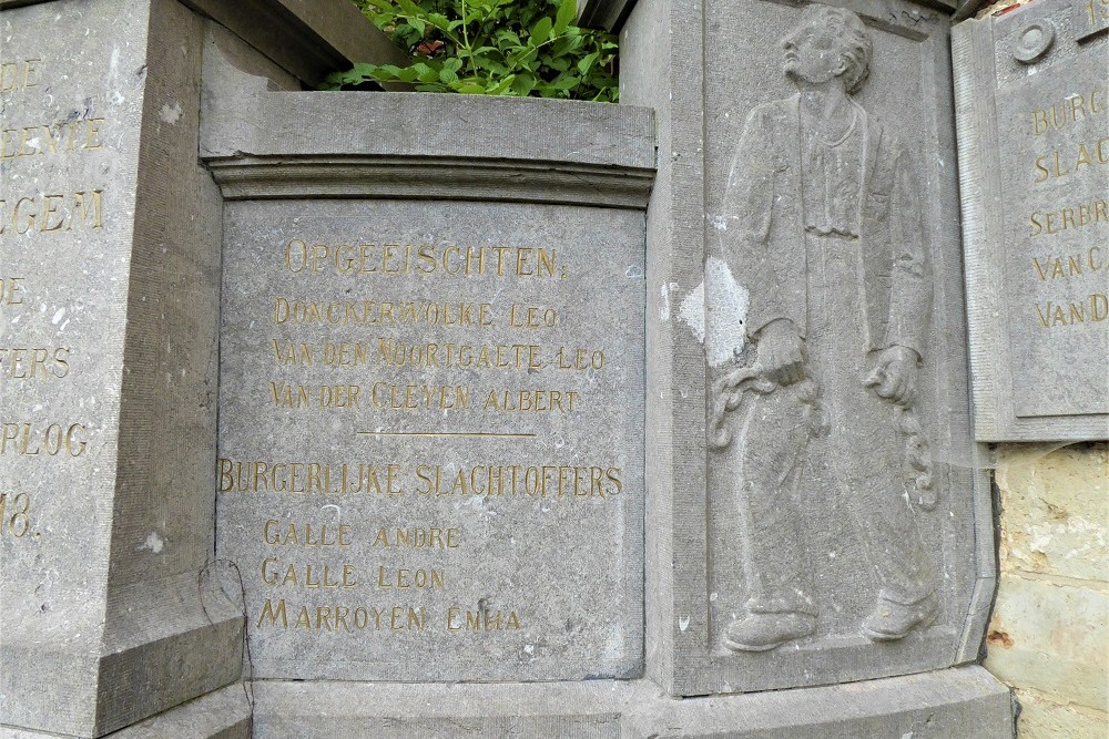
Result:
<svg viewBox="0 0 1109 739"><path fill-rule="evenodd" d="M747 116L735 150L723 216L724 254L751 295L746 331L791 320L806 333L808 283L802 215L800 96ZM861 107L864 131L859 244L868 349L903 346L924 356L932 279L920 227L923 195L904 147ZM847 286L844 286L845 289Z"/></svg>

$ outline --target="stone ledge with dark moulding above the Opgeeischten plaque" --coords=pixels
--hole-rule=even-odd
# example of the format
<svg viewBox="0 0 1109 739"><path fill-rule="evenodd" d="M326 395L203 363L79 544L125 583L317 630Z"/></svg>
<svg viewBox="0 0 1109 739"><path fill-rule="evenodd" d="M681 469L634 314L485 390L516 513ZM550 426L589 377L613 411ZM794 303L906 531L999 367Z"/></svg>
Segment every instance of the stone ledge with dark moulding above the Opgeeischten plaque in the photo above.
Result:
<svg viewBox="0 0 1109 739"><path fill-rule="evenodd" d="M200 154L228 199L423 197L647 208L655 165L650 109L269 92L264 78L235 68L215 47L205 68ZM315 125L319 121L327 125ZM517 135L506 140L506 130Z"/></svg>

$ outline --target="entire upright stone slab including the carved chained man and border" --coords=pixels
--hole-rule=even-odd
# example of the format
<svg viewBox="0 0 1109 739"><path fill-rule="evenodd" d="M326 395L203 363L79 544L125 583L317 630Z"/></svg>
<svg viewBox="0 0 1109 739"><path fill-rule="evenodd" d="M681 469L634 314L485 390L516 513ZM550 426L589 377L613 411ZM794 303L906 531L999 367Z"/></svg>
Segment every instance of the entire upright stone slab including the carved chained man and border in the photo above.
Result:
<svg viewBox="0 0 1109 739"><path fill-rule="evenodd" d="M869 76L813 119L796 80L851 74L806 45L827 19L674 1L623 31L621 100L659 115L648 667L674 694L937 669L981 639L994 555L964 390L948 21L852 10Z"/></svg>

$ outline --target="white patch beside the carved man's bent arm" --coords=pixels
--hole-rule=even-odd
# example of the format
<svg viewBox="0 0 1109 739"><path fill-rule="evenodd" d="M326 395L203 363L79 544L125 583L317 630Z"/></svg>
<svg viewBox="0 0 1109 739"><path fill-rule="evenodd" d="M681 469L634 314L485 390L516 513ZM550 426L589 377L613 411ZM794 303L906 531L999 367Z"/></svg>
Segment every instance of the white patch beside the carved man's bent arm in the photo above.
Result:
<svg viewBox="0 0 1109 739"><path fill-rule="evenodd" d="M750 305L751 294L735 281L728 264L709 257L704 281L682 300L679 316L704 345L710 367L722 367L743 351Z"/></svg>

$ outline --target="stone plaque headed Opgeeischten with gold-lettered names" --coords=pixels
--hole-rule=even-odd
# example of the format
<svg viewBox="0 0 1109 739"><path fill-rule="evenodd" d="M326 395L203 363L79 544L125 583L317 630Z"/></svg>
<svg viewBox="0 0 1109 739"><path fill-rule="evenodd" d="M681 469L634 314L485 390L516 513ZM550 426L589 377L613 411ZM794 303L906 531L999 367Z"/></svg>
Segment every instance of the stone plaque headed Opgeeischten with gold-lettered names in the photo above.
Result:
<svg viewBox="0 0 1109 739"><path fill-rule="evenodd" d="M258 677L642 660L643 215L228 203L218 553Z"/></svg>

